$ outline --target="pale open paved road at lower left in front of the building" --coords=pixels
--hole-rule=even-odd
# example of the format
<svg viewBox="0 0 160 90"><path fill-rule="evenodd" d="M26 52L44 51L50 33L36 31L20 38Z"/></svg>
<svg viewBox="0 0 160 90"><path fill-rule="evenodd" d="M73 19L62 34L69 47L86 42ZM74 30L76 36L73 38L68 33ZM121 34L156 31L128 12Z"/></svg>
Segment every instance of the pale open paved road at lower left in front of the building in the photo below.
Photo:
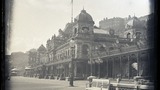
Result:
<svg viewBox="0 0 160 90"><path fill-rule="evenodd" d="M74 81L74 87L64 80L49 80L14 76L8 81L6 90L85 90L88 81Z"/></svg>

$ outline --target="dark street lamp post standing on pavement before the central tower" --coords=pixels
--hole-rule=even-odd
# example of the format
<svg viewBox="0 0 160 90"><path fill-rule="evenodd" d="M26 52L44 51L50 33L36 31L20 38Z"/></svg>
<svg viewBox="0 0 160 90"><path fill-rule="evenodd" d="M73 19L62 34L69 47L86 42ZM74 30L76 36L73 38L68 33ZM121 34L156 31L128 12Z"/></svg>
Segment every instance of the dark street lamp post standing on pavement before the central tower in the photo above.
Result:
<svg viewBox="0 0 160 90"><path fill-rule="evenodd" d="M70 40L70 47L71 47L71 63L70 63L70 68L71 68L71 70L70 70L70 82L69 82L69 84L70 84L70 86L71 87L73 87L73 80L74 80L74 74L73 74L73 72L74 72L74 66L73 66L73 49L74 49L74 38L72 38L71 40Z"/></svg>

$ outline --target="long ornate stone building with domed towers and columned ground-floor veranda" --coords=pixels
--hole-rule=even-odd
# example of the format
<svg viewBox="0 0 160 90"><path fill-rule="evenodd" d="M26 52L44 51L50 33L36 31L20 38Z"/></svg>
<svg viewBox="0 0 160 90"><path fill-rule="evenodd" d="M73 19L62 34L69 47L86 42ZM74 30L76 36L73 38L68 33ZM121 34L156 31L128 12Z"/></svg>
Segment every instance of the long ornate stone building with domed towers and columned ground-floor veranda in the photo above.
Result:
<svg viewBox="0 0 160 90"><path fill-rule="evenodd" d="M128 21L124 37L120 37L113 29L94 27L92 16L82 10L73 23L47 40L46 47L41 45L29 56L32 76L64 79L71 71L75 79L86 79L90 75L127 79L150 76L152 47L144 43L145 38L140 38L145 37L146 29L139 23L136 17ZM137 34L139 31L142 34Z"/></svg>

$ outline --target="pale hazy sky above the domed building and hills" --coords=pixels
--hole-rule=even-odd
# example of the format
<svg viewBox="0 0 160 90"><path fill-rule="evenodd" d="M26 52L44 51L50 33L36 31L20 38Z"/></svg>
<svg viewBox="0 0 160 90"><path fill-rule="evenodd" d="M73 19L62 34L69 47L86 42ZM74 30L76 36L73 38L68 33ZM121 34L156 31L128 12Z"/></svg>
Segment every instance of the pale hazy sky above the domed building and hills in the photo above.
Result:
<svg viewBox="0 0 160 90"><path fill-rule="evenodd" d="M71 0L14 0L8 53L37 49L71 22ZM73 18L84 8L96 26L103 18L150 14L148 0L73 0Z"/></svg>

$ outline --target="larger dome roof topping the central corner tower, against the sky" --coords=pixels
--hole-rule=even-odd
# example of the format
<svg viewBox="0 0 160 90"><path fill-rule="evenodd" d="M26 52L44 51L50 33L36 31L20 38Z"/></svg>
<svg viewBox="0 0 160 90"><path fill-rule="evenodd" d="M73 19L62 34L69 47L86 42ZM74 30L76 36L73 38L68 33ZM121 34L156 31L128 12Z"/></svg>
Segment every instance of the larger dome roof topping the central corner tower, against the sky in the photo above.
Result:
<svg viewBox="0 0 160 90"><path fill-rule="evenodd" d="M89 15L86 10L82 10L81 13L75 18L75 21L78 22L91 22L94 24L94 21L91 17L91 15Z"/></svg>

